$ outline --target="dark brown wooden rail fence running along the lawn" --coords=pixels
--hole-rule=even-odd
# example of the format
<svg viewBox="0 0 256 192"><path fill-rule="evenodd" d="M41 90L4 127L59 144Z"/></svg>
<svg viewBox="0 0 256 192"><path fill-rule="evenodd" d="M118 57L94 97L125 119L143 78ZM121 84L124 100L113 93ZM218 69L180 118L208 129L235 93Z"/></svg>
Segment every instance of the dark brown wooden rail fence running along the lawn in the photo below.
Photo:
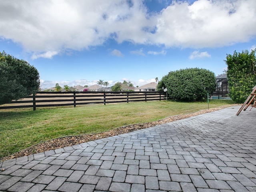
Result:
<svg viewBox="0 0 256 192"><path fill-rule="evenodd" d="M85 104L108 104L166 99L166 92L37 92L0 109L74 106Z"/></svg>

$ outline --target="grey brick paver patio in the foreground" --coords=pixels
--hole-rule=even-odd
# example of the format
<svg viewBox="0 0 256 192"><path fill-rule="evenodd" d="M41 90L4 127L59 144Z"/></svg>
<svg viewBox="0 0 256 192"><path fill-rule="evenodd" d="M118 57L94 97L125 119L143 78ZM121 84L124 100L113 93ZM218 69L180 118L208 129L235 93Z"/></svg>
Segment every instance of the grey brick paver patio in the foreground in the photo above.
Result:
<svg viewBox="0 0 256 192"><path fill-rule="evenodd" d="M256 110L239 108L0 162L0 191L256 191Z"/></svg>

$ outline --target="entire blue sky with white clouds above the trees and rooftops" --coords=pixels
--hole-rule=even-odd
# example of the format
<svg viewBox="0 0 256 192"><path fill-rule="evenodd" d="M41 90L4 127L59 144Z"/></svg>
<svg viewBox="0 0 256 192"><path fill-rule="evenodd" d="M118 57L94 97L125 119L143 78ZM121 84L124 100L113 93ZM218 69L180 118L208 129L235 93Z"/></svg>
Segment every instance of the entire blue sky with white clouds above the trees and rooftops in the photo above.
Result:
<svg viewBox="0 0 256 192"><path fill-rule="evenodd" d="M26 60L42 89L170 71L222 74L226 54L256 48L256 0L0 0L0 52Z"/></svg>

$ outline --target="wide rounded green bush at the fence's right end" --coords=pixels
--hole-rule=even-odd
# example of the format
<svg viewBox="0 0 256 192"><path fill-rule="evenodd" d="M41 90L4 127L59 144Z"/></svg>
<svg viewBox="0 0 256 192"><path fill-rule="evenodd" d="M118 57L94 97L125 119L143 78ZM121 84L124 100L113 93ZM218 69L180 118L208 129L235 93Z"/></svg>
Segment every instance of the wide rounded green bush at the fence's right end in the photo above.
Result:
<svg viewBox="0 0 256 192"><path fill-rule="evenodd" d="M168 97L184 101L202 100L216 89L213 72L206 69L186 68L171 71L158 82L157 90L167 88Z"/></svg>

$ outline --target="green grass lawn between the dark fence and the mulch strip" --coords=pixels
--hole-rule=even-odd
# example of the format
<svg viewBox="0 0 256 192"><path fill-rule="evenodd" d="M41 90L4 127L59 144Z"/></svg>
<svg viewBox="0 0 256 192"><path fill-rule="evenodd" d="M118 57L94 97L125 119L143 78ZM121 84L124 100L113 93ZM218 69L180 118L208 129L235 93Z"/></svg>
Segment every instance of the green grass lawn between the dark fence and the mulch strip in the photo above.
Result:
<svg viewBox="0 0 256 192"><path fill-rule="evenodd" d="M212 100L209 106L215 108L226 104L233 102ZM100 133L207 108L207 102L151 101L0 111L0 158L53 138Z"/></svg>

